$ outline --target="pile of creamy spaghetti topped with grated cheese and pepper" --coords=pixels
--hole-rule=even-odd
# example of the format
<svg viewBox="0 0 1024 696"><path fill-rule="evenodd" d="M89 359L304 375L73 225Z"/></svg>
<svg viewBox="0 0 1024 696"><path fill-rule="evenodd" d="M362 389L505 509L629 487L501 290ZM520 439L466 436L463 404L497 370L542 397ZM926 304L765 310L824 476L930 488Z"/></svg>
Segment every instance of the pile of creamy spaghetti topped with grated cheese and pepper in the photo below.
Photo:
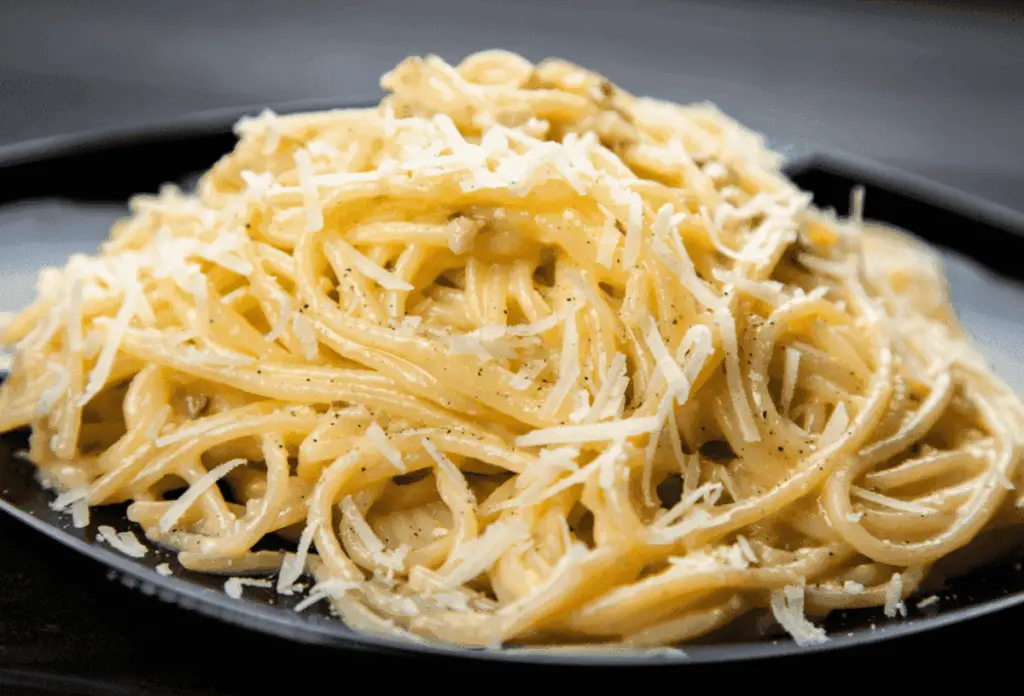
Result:
<svg viewBox="0 0 1024 696"><path fill-rule="evenodd" d="M825 640L1019 521L1024 409L928 250L564 61L382 85L244 120L44 271L0 429L80 523L127 502L362 630L655 646L754 610Z"/></svg>

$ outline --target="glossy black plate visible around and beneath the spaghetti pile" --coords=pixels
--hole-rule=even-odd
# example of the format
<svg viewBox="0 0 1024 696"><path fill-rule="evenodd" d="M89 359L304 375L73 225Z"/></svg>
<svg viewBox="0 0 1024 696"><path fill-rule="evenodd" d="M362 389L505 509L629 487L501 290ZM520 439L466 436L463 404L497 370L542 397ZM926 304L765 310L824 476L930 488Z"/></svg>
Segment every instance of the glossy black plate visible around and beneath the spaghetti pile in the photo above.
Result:
<svg viewBox="0 0 1024 696"><path fill-rule="evenodd" d="M364 105L370 101L345 105ZM298 102L278 106L276 111L336 105L323 101ZM8 251L14 251L0 255L6 257L0 258L0 298L9 296L2 286L12 279L22 286L22 293L29 292L26 282L18 278L24 275L28 279L41 263L62 263L68 253L93 248L105 235L110 221L124 212L124 201L131 194L156 190L166 181L188 180L209 167L232 146L231 124L239 117L258 111L221 111L144 129L94 132L0 148L0 204L7 204L0 207L0 240ZM99 176L97 172L103 174ZM814 156L790 163L787 172L801 187L814 194L819 206L835 208L840 213L846 212L852 186L863 185L868 218L901 226L945 247L954 304L965 323L978 338L996 372L1019 391L1024 389L1019 361L1010 348L1024 340L1024 285L1021 284L1024 275L1016 263L1024 258L1024 216L846 156ZM70 205L77 208L54 213L53 200L62 201L61 206L73 202ZM25 211L36 210L34 206L49 206L47 214L51 218L55 215L47 227L49 237L40 233L35 221L28 227L18 227L25 223ZM81 222L81 226L76 222ZM19 245L30 244L38 247L33 247L35 257L17 252ZM27 264L30 267L26 268ZM986 268L996 271L998 276ZM31 287L31 282L28 285ZM0 438L0 510L108 566L130 588L229 623L300 643L504 661L692 664L864 645L1024 604L1024 573L1020 560L1011 554L937 589L940 600L926 609L918 609L916 601L909 601L909 616L905 619L888 620L878 610L835 613L825 622L831 640L819 646L800 648L787 639L777 638L745 643L708 642L688 646L685 652L483 651L413 644L354 633L315 607L297 614L293 611L296 599L276 597L269 591L247 589L243 599L230 599L222 591L223 577L186 571L175 563L173 554L148 545L140 530L127 522L123 507L94 510L87 529L72 528L67 516L49 508L53 496L35 481L32 467L13 455L24 445L24 436L20 433ZM133 528L150 553L136 560L112 551L96 540L95 529L100 524L119 530ZM160 563L169 563L174 574L168 577L158 574L156 566Z"/></svg>

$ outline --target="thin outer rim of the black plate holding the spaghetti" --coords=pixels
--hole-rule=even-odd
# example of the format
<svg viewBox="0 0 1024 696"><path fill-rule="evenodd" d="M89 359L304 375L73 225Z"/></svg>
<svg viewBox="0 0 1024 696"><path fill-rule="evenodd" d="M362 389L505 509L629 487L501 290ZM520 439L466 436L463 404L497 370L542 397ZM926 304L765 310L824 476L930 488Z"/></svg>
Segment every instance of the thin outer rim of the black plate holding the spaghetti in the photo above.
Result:
<svg viewBox="0 0 1024 696"><path fill-rule="evenodd" d="M0 146L0 169L23 164L55 163L62 158L132 147L160 141L188 140L223 136L244 116L270 108L279 114L308 110L371 106L379 95L352 98L316 98L270 103L226 106L181 115L161 121L129 126L104 127L73 133L46 136ZM872 160L848 153L814 151L786 161L787 175L812 170L840 173L867 179L872 184L913 195L926 203L952 208L961 214L983 220L998 227L1024 234L1024 214L977 195L955 189L927 177L909 173ZM38 485L38 484L37 484ZM572 648L527 648L479 650L439 643L416 643L409 640L364 634L348 628L338 619L300 617L287 609L248 600L234 600L209 588L194 584L176 576L162 576L152 568L136 563L99 543L89 543L69 531L16 508L0 494L0 511L27 524L35 531L56 540L93 561L116 571L124 584L144 594L158 595L162 600L226 623L275 636L300 644L326 648L387 652L392 654L437 656L470 659L480 662L543 664L561 666L666 666L728 663L741 660L831 653L837 650L873 645L896 638L909 637L933 629L994 614L1024 604L1024 591L952 609L944 614L904 619L880 625L877 629L834 634L825 643L798 646L788 638L775 641L725 643L689 646L682 650L615 652L612 650L573 650ZM148 542L152 548L152 543ZM130 579L129 579L130 578Z"/></svg>

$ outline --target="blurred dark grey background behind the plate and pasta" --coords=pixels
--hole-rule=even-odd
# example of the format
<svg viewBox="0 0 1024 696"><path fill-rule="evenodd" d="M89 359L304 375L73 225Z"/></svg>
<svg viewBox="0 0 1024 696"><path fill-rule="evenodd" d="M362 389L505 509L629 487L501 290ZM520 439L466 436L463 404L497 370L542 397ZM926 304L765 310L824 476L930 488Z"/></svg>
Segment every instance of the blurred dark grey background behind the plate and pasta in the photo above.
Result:
<svg viewBox="0 0 1024 696"><path fill-rule="evenodd" d="M254 101L374 93L410 53L560 55L1024 210L1024 6L977 2L0 3L0 142ZM969 11L968 7L975 8Z"/></svg>

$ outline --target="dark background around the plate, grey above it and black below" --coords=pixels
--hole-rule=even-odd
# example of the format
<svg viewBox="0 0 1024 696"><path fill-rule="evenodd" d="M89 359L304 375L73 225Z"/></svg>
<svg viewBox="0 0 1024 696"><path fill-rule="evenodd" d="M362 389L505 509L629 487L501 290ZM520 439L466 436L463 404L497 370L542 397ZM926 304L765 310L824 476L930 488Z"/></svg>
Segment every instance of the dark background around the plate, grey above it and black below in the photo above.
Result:
<svg viewBox="0 0 1024 696"><path fill-rule="evenodd" d="M635 93L710 99L792 155L848 151L1024 211L1024 5L968 0L0 0L0 145L227 105L375 96L378 76L407 54L457 60L490 47L567 57ZM601 679L645 691L820 690L991 675L1016 667L1002 658L1022 618L848 654ZM559 677L577 691L595 672L289 646L124 590L0 519L0 694L44 683L54 693L262 693L283 680L297 680L286 693L341 692L364 679L374 691L461 693Z"/></svg>

